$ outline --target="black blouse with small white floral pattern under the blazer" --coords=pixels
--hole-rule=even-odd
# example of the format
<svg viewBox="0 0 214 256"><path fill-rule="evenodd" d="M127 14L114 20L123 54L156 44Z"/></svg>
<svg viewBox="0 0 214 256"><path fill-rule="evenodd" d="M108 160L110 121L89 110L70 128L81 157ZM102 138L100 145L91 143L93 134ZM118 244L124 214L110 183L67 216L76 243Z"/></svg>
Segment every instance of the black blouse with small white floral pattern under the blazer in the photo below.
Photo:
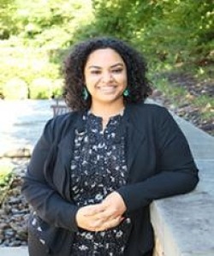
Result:
<svg viewBox="0 0 214 256"><path fill-rule="evenodd" d="M71 194L78 206L100 203L106 195L126 184L128 170L122 116L113 116L102 130L102 118L83 116L86 133L76 134L71 161ZM123 255L131 231L129 218L116 228L92 232L79 229L74 237L72 256Z"/></svg>

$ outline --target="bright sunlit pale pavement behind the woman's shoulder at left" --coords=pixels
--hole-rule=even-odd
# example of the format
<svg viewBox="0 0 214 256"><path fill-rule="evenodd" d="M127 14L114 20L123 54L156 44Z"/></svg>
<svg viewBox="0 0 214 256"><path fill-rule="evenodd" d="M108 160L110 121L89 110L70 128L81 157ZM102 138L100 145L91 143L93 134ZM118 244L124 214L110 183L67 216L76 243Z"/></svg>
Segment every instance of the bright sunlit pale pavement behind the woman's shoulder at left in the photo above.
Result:
<svg viewBox="0 0 214 256"><path fill-rule="evenodd" d="M52 100L0 100L0 154L34 146L52 117Z"/></svg>

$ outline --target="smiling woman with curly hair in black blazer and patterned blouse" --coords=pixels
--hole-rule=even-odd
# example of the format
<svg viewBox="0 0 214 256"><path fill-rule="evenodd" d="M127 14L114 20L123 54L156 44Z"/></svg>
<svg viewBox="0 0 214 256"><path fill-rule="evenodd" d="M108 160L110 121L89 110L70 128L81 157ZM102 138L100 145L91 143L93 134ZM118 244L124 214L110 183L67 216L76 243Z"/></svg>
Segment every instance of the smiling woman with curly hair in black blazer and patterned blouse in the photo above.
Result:
<svg viewBox="0 0 214 256"><path fill-rule="evenodd" d="M150 203L198 182L187 140L121 40L75 45L64 71L73 111L45 125L22 188L30 256L152 256Z"/></svg>

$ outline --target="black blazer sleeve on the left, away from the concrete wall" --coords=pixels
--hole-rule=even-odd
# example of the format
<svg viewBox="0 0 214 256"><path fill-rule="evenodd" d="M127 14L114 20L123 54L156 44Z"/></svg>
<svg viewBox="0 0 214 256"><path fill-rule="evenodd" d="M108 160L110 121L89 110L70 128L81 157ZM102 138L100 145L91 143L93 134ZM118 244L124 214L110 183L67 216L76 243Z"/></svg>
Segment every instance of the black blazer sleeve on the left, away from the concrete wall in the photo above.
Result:
<svg viewBox="0 0 214 256"><path fill-rule="evenodd" d="M46 123L44 132L33 149L21 191L33 210L46 223L75 231L78 230L75 223L77 206L62 199L45 178L45 164L53 145L55 126L54 119Z"/></svg>

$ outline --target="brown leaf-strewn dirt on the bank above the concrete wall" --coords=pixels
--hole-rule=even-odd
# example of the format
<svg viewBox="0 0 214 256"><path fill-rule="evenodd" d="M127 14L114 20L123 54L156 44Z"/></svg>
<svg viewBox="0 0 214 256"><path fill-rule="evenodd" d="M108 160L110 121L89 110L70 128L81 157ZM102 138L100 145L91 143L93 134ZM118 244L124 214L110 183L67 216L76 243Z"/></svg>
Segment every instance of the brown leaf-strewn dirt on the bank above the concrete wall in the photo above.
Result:
<svg viewBox="0 0 214 256"><path fill-rule="evenodd" d="M211 75L213 77L213 75ZM214 136L214 106L207 103L203 107L203 110L194 104L194 99L202 97L203 95L210 98L214 97L214 79L204 79L199 80L193 77L191 74L185 73L164 73L160 74L159 77L169 80L171 86L180 86L187 90L187 97L185 101L181 96L171 99L169 96L165 95L163 92L154 90L152 93L152 98L163 106L167 107L169 110L175 112L176 115L183 117L193 125L202 129L207 134ZM179 104L175 104L179 102ZM206 118L203 112L210 114L210 117Z"/></svg>

